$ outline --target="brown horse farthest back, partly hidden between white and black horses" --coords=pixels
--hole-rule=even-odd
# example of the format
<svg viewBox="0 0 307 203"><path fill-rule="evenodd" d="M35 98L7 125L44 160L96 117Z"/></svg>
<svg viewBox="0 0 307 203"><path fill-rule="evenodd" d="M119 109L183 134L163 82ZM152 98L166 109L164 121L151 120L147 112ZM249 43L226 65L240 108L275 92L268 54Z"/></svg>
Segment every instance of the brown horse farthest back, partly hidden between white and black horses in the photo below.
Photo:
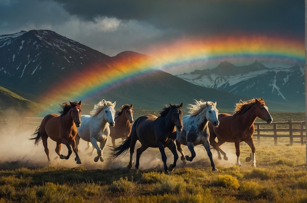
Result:
<svg viewBox="0 0 307 203"><path fill-rule="evenodd" d="M131 132L131 123L133 123L133 106L125 104L122 105L119 111L115 114L116 125L111 128L110 137L112 139L112 145L115 146L115 140L122 138L127 139Z"/></svg>

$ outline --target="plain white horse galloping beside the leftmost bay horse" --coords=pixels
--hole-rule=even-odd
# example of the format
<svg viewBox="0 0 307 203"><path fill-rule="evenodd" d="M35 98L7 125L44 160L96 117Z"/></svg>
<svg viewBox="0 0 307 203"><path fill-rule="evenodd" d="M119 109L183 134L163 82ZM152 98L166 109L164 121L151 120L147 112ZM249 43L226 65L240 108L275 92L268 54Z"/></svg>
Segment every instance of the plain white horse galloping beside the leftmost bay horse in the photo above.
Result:
<svg viewBox="0 0 307 203"><path fill-rule="evenodd" d="M110 135L110 126L115 125L115 105L116 102L112 103L102 99L98 104L94 106L94 109L89 115L81 115L82 125L77 128L76 146L79 145L79 140L82 138L97 149L97 154L94 161L98 159L103 161L102 151L106 144L107 138ZM98 146L100 142L100 146Z"/></svg>

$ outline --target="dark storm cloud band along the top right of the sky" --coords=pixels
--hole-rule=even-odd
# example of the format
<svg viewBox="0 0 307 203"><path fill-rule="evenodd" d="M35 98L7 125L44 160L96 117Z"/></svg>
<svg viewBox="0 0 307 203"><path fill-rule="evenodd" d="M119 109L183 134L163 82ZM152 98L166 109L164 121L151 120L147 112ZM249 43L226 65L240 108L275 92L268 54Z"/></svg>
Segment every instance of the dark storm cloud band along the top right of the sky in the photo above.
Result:
<svg viewBox="0 0 307 203"><path fill-rule="evenodd" d="M179 34L267 32L304 36L304 0L56 0L70 14L137 20Z"/></svg>

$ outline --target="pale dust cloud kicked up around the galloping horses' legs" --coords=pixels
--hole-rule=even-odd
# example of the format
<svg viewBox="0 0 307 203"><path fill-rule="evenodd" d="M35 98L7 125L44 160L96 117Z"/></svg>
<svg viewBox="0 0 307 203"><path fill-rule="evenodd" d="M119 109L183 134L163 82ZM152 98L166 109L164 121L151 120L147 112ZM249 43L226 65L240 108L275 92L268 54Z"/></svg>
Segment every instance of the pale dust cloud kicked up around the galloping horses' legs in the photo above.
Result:
<svg viewBox="0 0 307 203"><path fill-rule="evenodd" d="M29 140L33 138L31 135L35 132L38 125L25 125L22 120L16 119L16 117L7 118L7 124L0 125L0 169L17 169L21 167L37 168L52 165L54 167L84 167L87 170L94 169L118 169L127 168L129 163L128 153L125 156L113 158L111 157L110 146L112 145L111 139L109 138L106 146L103 149L102 157L103 162L94 161L94 157L97 156L97 150L95 149L93 154L89 154L92 150L85 148L87 147L87 142L80 139L80 144L78 146L78 155L81 159L82 164L77 164L75 161L75 153L73 152L68 160L60 159L55 153L56 143L50 138L48 139L48 148L51 162L48 162L47 155L44 150L42 143L39 145L34 145L34 140ZM116 144L120 144L121 139L116 140ZM140 147L140 143L137 142L135 146L135 152L133 154L134 165L136 160L136 149ZM182 145L183 152L185 155L191 155L187 146ZM219 167L231 167L236 163L235 148L233 143L225 143L222 145L223 150L227 152L229 157L228 161L218 160L217 152L211 149L213 154L213 160L216 168ZM68 150L65 145L62 144L61 154L67 155ZM165 148L167 155L167 165L169 166L174 162L174 156L172 152ZM185 163L180 160L177 161L177 168L184 167L206 167L211 169L210 160L207 156L205 148L203 145L195 146L196 157L192 162L186 161ZM245 163L245 157L241 157L241 163ZM148 148L142 153L140 158L140 170L158 170L163 171L163 162L161 160L161 154L158 148Z"/></svg>

